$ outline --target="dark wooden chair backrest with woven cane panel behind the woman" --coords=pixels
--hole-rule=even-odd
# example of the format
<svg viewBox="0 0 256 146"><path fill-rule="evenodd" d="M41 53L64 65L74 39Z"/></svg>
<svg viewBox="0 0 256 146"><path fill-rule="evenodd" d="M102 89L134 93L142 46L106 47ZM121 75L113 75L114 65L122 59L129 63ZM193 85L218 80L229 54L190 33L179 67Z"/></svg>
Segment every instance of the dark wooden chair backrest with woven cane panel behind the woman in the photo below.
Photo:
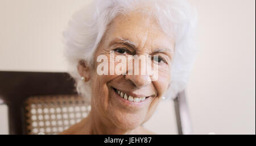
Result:
<svg viewBox="0 0 256 146"><path fill-rule="evenodd" d="M2 72L0 98L8 106L9 134L57 134L84 118L90 106L68 73ZM174 99L179 134L192 134L182 91Z"/></svg>

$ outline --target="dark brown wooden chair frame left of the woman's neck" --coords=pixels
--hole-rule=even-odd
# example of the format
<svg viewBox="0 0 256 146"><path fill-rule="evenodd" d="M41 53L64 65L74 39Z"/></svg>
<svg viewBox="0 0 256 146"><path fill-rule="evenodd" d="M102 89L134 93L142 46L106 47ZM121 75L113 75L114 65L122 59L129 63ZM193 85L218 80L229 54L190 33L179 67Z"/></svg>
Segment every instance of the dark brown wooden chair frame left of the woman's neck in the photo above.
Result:
<svg viewBox="0 0 256 146"><path fill-rule="evenodd" d="M68 73L2 72L0 98L8 106L9 134L24 134L23 103L35 95L77 94Z"/></svg>

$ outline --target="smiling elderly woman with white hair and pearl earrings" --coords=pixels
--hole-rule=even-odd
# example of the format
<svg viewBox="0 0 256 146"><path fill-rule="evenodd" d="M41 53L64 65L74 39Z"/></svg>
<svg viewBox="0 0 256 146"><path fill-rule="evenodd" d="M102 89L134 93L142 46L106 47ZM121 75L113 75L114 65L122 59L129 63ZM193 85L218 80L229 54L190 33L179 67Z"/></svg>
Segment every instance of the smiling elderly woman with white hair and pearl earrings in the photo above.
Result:
<svg viewBox="0 0 256 146"><path fill-rule="evenodd" d="M142 124L164 97L185 88L195 58L195 16L183 0L102 0L76 12L64 32L65 56L91 111L61 134L152 134ZM128 59L143 55L152 56L151 64ZM105 56L103 65L99 56ZM132 68L117 73L126 62L113 56L131 61ZM133 72L149 65L157 69Z"/></svg>

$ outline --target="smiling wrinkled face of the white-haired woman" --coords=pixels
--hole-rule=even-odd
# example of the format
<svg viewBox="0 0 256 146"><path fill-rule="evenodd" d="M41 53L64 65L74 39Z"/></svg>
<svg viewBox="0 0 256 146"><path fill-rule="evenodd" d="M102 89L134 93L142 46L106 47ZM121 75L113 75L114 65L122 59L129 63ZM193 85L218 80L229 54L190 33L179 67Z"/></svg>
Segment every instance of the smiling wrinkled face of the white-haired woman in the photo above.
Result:
<svg viewBox="0 0 256 146"><path fill-rule="evenodd" d="M150 74L142 75L141 72L137 75L100 76L97 66L101 62L96 61L99 55L108 57L109 66L110 62L115 66L120 63L110 59L110 51L114 51L115 56L158 56L158 60L152 59L152 65L158 65L158 78L148 80ZM146 122L168 89L173 52L174 40L160 30L155 19L139 13L118 15L102 37L94 54L94 67L89 69L93 114L99 115L105 124L111 123L123 130L133 130ZM143 65L146 64L140 64L138 68ZM113 69L108 68L109 72Z"/></svg>

